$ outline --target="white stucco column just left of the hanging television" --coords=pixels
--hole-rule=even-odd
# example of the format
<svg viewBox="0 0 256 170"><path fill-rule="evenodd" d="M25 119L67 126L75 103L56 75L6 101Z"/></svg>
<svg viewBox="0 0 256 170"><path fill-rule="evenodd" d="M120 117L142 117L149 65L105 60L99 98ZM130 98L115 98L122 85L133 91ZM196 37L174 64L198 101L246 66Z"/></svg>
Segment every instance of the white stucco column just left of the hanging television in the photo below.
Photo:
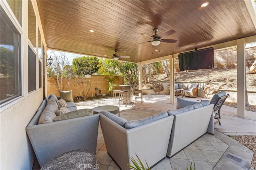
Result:
<svg viewBox="0 0 256 170"><path fill-rule="evenodd" d="M170 104L174 104L174 58L170 55Z"/></svg>

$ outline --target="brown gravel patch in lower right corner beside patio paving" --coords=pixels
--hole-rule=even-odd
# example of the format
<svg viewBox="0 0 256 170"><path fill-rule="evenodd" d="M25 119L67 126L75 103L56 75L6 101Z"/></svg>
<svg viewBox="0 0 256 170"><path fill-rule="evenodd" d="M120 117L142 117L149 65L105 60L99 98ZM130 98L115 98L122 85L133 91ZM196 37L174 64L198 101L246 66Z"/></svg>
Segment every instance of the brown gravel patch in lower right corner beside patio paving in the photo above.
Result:
<svg viewBox="0 0 256 170"><path fill-rule="evenodd" d="M233 139L248 147L254 152L252 157L251 169L256 170L256 136L244 135L244 136L232 136Z"/></svg>

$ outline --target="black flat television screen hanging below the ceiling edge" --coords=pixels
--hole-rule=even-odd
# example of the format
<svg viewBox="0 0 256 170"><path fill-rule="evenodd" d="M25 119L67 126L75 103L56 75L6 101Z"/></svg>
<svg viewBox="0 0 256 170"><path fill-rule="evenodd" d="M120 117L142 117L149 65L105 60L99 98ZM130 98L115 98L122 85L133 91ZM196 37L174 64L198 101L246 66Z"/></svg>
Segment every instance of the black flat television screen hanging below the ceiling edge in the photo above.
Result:
<svg viewBox="0 0 256 170"><path fill-rule="evenodd" d="M214 48L180 53L178 58L180 71L210 69L214 67Z"/></svg>

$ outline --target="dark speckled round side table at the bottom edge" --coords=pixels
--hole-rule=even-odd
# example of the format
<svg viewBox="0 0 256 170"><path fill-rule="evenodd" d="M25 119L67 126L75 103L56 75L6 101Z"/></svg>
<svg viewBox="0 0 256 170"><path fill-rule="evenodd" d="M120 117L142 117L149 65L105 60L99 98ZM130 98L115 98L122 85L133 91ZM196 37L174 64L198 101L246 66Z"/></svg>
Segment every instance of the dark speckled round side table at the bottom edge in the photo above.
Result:
<svg viewBox="0 0 256 170"><path fill-rule="evenodd" d="M60 154L47 162L40 170L96 170L98 168L99 166L94 152L86 149L78 149Z"/></svg>

